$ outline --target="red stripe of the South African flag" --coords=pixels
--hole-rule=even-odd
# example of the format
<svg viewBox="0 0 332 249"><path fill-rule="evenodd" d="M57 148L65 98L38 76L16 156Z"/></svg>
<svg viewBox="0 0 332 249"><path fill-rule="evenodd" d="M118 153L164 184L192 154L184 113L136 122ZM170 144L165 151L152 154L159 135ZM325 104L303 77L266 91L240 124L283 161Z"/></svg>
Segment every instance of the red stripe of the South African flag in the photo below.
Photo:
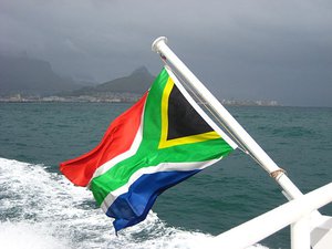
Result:
<svg viewBox="0 0 332 249"><path fill-rule="evenodd" d="M86 186L104 163L128 151L139 128L147 93L129 110L115 118L102 142L91 152L60 164L60 170L73 184Z"/></svg>

